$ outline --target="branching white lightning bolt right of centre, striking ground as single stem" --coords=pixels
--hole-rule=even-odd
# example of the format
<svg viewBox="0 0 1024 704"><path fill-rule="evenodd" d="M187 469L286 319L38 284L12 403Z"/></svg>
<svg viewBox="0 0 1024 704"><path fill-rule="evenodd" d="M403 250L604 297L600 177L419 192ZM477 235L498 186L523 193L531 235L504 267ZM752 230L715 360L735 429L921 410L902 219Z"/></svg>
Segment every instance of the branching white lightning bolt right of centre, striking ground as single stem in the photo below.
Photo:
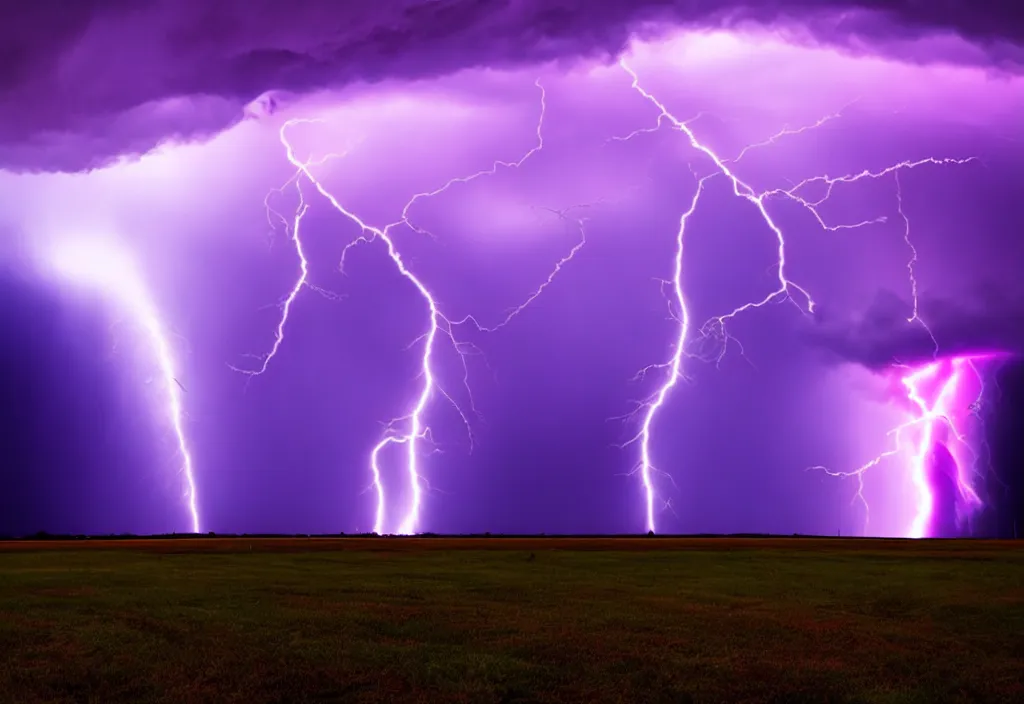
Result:
<svg viewBox="0 0 1024 704"><path fill-rule="evenodd" d="M684 300L683 296L683 289L682 289L683 284L681 280L683 271L682 260L681 260L682 250L683 250L682 233L683 230L685 229L686 219L690 215L692 215L692 213L697 208L699 195L701 193L702 185L705 182L703 180L700 180L699 183L701 187L697 188L697 191L694 195L692 203L690 204L689 209L683 215L677 239L676 262L674 265L673 278L671 282L667 282L667 285L663 288L664 291L664 289L671 287L675 293L674 300L670 302L670 310L673 309L673 306L679 309L678 315L675 313L675 311L673 312L673 317L676 318L679 324L678 339L675 344L674 353L669 362L662 364L654 364L649 367L646 367L643 370L643 372L646 372L652 369L665 369L666 377L662 382L660 386L653 393L653 395L649 397L649 399L641 406L641 410L643 410L643 422L641 425L640 433L636 435L628 443L626 443L627 445L635 442L640 443L640 448L641 448L640 459L637 469L640 472L645 491L646 527L648 531L654 531L655 521L653 515L653 505L655 497L654 497L652 475L656 470L652 461L652 451L651 451L652 426L656 420L658 412L664 408L666 399L670 395L670 392L676 386L682 375L683 356L696 357L705 360L713 360L716 363L720 362L727 353L730 342L736 342L734 338L732 338L727 331L727 324L729 323L729 321L738 316L740 313L744 313L757 308L762 308L770 303L788 301L794 303L794 305L796 305L798 309L800 309L805 314L814 312L815 302L814 299L811 297L811 295L808 293L808 291L803 287L801 287L800 284L794 282L786 276L785 236L782 231L782 228L775 222L775 220L772 218L771 214L768 211L769 200L772 197L781 196L790 199L800 204L814 216L818 224L824 230L837 231L842 229L858 228L865 225L885 222L886 218L877 217L873 219L864 220L862 222L852 223L852 224L829 224L820 215L818 210L819 207L822 206L831 196L833 190L838 184L849 184L849 183L854 183L856 181L860 181L862 179L876 179L886 176L888 174L893 174L897 178L897 200L898 200L899 214L900 217L903 218L906 226L904 231L904 240L911 250L911 261L908 264L907 268L911 277L911 282L913 288L914 305L913 305L913 315L908 321L919 322L920 324L925 326L926 329L928 329L927 324L924 322L924 320L921 320L921 318L918 315L918 300L916 300L918 287L916 287L916 279L914 277L914 267L913 267L914 263L916 262L916 250L914 249L913 244L910 241L909 221L906 220L906 216L903 214L902 210L902 191L900 190L898 173L899 171L904 169L912 169L925 165L966 164L968 162L973 161L974 158L967 158L967 159L926 158L918 161L904 161L898 164L891 165L879 171L870 171L865 169L859 173L847 174L839 177L831 177L828 175L814 176L805 179L787 189L772 189L772 190L758 192L750 184L741 180L739 176L736 175L733 168L730 168L729 165L732 164L733 167L735 167L736 163L739 162L740 159L753 148L769 146L774 144L778 139L782 137L799 135L808 132L810 130L816 129L824 125L825 123L838 118L842 113L842 111L840 111L835 115L826 116L821 120L818 120L813 125L808 125L806 127L796 130L783 129L763 142L752 144L745 147L739 152L739 156L736 157L735 159L727 160L719 157L712 147L710 147L708 144L706 144L705 142L700 141L697 138L693 129L689 126L689 123L691 123L695 118L687 121L680 120L679 118L677 118L668 109L668 107L666 107L664 102L662 102L652 93L645 90L640 85L640 79L638 75L636 74L635 71L633 71L633 69L629 67L629 64L626 62L625 59L621 59L618 64L632 79L631 88L636 92L638 92L645 100L653 104L658 111L657 123L655 127L637 130L631 133L630 135L627 135L626 137L622 137L620 139L628 140L633 138L634 136L637 136L645 132L653 132L659 129L665 122L668 122L673 129L680 131L684 134L684 136L687 138L690 146L693 149L701 152L712 162L712 164L715 167L715 171L713 172L712 175L722 175L726 177L732 185L733 193L736 196L743 199L748 203L752 204L758 210L762 221L765 223L768 229L771 230L771 232L774 234L778 245L777 258L774 265L777 274L777 285L775 287L775 289L759 300L744 303L740 306L737 306L728 313L725 313L724 315L717 315L710 318L697 329L697 335L695 336L695 339L690 340L689 331L691 325L690 325L689 315L686 309L686 301ZM819 200L812 201L809 200L808 197L801 195L804 189L811 186L812 184L820 184L824 186L825 189L824 194ZM797 295L796 298L795 294ZM929 331L929 334L931 334L931 331ZM738 343L736 344L738 345ZM711 350L710 353L707 352L709 348ZM740 353L742 353L743 350L741 346L739 347L739 350ZM879 459L879 461L881 461L881 458ZM671 477L671 475L669 476Z"/></svg>

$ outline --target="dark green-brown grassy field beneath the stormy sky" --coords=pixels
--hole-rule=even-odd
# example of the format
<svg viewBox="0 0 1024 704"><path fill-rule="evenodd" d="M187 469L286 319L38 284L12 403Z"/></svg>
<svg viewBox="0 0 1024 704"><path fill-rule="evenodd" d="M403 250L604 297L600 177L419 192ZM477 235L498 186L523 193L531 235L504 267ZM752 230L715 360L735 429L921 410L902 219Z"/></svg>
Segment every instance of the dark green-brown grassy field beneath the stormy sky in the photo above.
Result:
<svg viewBox="0 0 1024 704"><path fill-rule="evenodd" d="M1022 543L0 543L0 702L1024 702Z"/></svg>

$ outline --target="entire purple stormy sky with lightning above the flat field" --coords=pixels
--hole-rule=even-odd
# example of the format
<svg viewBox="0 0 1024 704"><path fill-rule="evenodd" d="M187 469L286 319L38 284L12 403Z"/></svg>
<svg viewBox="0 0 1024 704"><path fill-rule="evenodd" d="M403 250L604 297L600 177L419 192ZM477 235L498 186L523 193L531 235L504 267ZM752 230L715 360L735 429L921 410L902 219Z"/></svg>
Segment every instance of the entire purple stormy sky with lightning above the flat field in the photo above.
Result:
<svg viewBox="0 0 1024 704"><path fill-rule="evenodd" d="M5 3L0 534L1013 536L1013 4Z"/></svg>

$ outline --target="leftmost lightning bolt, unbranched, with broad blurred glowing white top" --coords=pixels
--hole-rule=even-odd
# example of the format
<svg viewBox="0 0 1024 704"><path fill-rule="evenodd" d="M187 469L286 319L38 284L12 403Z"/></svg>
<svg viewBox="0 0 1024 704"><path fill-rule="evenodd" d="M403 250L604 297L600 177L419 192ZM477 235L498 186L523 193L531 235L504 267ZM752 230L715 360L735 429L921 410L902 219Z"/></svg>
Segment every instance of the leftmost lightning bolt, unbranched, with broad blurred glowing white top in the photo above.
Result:
<svg viewBox="0 0 1024 704"><path fill-rule="evenodd" d="M113 299L116 305L126 311L134 323L144 332L154 361L160 371L166 400L165 411L174 430L181 457L190 527L193 532L199 533L196 477L184 428L185 412L182 399L184 387L177 379L174 355L157 306L135 263L122 248L111 241L78 237L53 246L47 261L61 277L76 284L95 289Z"/></svg>

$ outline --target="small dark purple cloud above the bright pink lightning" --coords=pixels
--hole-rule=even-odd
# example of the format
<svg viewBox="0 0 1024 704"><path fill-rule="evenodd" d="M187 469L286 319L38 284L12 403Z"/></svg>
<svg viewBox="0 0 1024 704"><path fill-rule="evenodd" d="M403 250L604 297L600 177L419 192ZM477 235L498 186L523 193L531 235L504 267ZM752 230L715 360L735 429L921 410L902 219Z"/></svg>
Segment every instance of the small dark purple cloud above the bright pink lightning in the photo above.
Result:
<svg viewBox="0 0 1024 704"><path fill-rule="evenodd" d="M922 299L921 318L938 342L941 355L998 351L1024 353L1024 301L994 291L982 291L969 300ZM933 358L935 342L920 323L908 323L909 302L882 292L864 314L852 323L819 316L808 340L838 358L879 369L895 362L913 364Z"/></svg>

